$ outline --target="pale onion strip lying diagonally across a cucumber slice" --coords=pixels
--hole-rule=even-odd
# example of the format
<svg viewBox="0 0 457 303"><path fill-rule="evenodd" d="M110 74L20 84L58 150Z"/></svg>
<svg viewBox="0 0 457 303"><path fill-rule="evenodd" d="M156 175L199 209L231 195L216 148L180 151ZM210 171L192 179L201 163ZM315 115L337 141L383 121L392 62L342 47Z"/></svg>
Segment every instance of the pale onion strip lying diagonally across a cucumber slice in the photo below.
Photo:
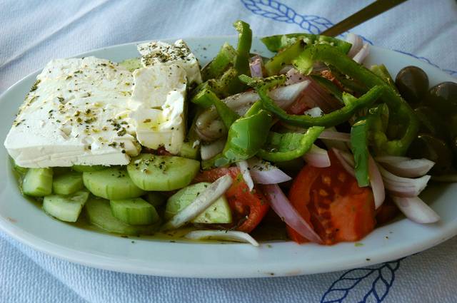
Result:
<svg viewBox="0 0 457 303"><path fill-rule="evenodd" d="M189 223L192 219L200 215L206 208L213 204L216 200L224 195L233 183L230 175L224 175L218 180L211 183L200 195L196 197L194 202L184 207L183 210L171 217L169 222L166 222L161 230L174 230Z"/></svg>

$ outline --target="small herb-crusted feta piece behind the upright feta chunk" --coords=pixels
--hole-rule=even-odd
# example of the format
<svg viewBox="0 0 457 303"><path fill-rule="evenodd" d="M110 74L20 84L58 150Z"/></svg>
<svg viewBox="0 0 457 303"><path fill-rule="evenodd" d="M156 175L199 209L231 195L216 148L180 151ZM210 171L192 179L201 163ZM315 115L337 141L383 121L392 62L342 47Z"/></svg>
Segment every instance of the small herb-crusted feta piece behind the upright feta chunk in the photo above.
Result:
<svg viewBox="0 0 457 303"><path fill-rule="evenodd" d="M141 63L144 67L176 64L186 71L189 84L201 83L199 61L184 41L178 40L174 44L151 41L141 43L137 48L141 53Z"/></svg>

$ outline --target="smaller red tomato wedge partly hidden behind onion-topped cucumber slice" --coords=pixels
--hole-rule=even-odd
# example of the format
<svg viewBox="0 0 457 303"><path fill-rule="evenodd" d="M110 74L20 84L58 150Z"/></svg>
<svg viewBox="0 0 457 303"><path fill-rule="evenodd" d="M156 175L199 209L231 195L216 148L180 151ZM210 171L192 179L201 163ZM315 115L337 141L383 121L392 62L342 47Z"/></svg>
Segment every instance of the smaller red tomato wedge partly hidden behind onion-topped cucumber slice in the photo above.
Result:
<svg viewBox="0 0 457 303"><path fill-rule="evenodd" d="M236 230L251 232L268 212L270 205L266 202L262 192L254 186L249 191L248 185L243 180L239 168L214 168L201 172L194 179L195 182L214 182L223 175L230 175L233 184L226 191Z"/></svg>

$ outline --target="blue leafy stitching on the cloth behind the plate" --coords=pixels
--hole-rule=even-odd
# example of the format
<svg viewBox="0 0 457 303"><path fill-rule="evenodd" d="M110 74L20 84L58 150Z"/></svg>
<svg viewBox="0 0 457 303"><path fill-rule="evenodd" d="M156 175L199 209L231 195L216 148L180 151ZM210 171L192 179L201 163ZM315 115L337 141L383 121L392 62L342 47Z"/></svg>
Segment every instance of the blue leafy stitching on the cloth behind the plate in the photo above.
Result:
<svg viewBox="0 0 457 303"><path fill-rule="evenodd" d="M301 29L308 31L308 33L311 34L320 34L322 31L333 26L333 23L326 18L316 15L298 14L291 7L288 7L286 6L286 4L282 4L281 2L276 0L241 0L241 3L246 7L246 9L251 11L253 14L260 15L265 18L272 19L274 21L286 22L288 24L297 24L301 27ZM367 38L363 36L361 36L361 38L367 43L373 44ZM428 58L416 56L413 53L408 53L406 51L394 51L398 51L398 53L404 53L408 56L412 56L413 58L418 58L422 61L426 61L432 66L440 68L435 63L431 63L431 61L428 60ZM442 71L445 71L446 73L451 74L452 76L457 76L457 71L445 68L440 69Z"/></svg>

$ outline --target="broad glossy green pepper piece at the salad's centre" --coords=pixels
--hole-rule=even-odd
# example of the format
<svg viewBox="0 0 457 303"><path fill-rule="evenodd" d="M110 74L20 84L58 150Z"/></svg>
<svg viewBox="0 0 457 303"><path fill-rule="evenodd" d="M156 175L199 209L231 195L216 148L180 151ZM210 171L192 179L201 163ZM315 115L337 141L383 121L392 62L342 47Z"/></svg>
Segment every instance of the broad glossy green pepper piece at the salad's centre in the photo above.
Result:
<svg viewBox="0 0 457 303"><path fill-rule="evenodd" d="M266 142L271 120L271 115L263 110L236 120L229 129L222 151L224 157L216 160L216 166L247 160L256 155Z"/></svg>

